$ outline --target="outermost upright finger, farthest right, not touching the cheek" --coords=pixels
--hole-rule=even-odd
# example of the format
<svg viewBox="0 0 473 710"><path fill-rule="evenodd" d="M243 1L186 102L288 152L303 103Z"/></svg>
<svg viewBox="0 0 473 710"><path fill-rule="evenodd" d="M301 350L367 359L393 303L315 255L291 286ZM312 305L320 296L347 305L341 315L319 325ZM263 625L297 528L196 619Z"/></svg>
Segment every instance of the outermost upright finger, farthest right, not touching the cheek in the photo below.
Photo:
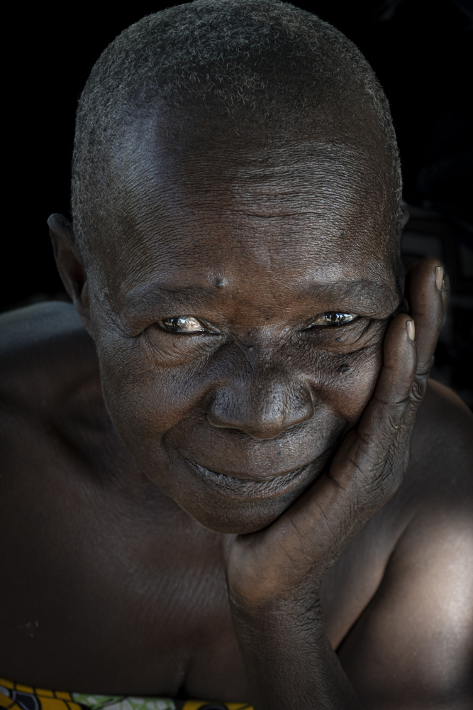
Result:
<svg viewBox="0 0 473 710"><path fill-rule="evenodd" d="M418 377L426 380L442 327L449 295L448 277L438 259L423 259L408 272L406 293L416 324Z"/></svg>

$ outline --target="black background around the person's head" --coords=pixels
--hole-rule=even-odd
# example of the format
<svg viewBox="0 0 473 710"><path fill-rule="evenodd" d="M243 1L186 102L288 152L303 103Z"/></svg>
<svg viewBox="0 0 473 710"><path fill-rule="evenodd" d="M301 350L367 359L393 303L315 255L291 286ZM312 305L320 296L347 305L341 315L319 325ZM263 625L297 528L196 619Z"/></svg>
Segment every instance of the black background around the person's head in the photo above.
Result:
<svg viewBox="0 0 473 710"><path fill-rule="evenodd" d="M4 133L6 171L0 310L65 298L46 219L69 215L74 114L105 46L145 14L179 3L18 4L14 51L5 72L11 97ZM411 206L406 265L440 256L452 302L436 354L435 378L473 405L472 77L473 0L294 2L357 44L391 104ZM8 31L8 30L7 30ZM8 73L8 77L6 76ZM7 88L7 87L6 87Z"/></svg>

